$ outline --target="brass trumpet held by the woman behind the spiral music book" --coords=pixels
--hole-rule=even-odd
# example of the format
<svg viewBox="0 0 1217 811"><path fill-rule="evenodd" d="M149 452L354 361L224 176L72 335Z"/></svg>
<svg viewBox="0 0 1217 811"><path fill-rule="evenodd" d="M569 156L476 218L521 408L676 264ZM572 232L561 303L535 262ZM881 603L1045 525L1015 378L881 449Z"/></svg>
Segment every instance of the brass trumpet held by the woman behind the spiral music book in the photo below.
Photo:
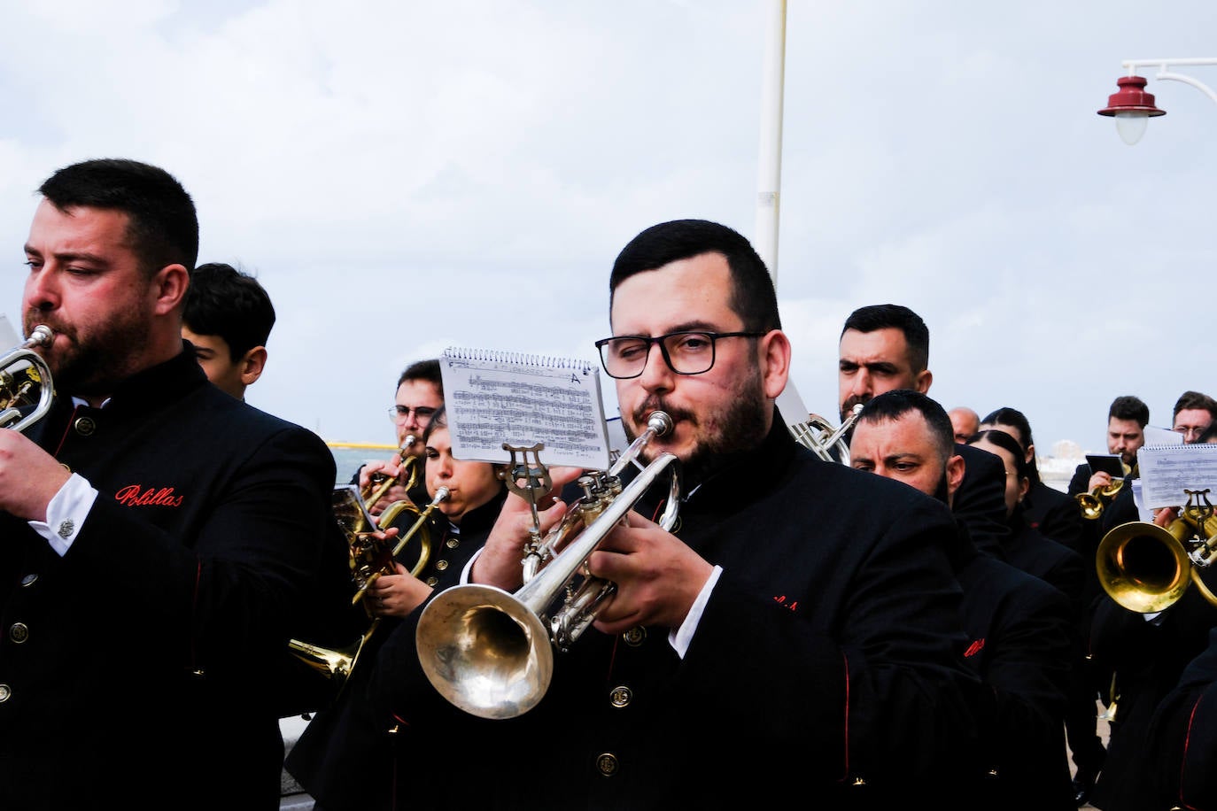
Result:
<svg viewBox="0 0 1217 811"><path fill-rule="evenodd" d="M337 490L344 491L343 503L348 503L347 500L350 497L350 490L354 488L338 488ZM419 562L410 570L410 574L415 578L422 571L427 565L427 559L431 554L431 536L426 529L427 518L431 517L432 511L439 506L441 502L449 496L448 488L438 488L436 490L434 499L431 500L422 511L420 511L417 519L410 526L397 545L389 552L385 546L383 541L375 539L366 533L359 533L358 537L350 539L350 565L352 565L352 578L355 580L357 591L354 597L350 599L352 606L358 606L363 599L364 595L368 592L368 587L376 581L382 574L397 574L397 568L393 562L405 545L419 533L422 533L421 550L419 552ZM394 501L389 509L398 507L405 502ZM363 507L361 503L357 505ZM413 507L413 505L410 505ZM336 511L337 512L337 511ZM366 511L364 511L366 513ZM386 513L388 509L385 511ZM338 519L340 524L342 518ZM369 523L372 522L371 516L365 519ZM387 523L386 523L387 525ZM374 615L368 606L364 606L364 610L371 618L371 624L368 630L364 631L353 643L344 648L326 648L312 642L303 642L301 640L290 640L287 647L296 654L296 657L303 660L307 665L312 666L314 670L321 672L321 675L335 680L341 686L346 683L347 678L350 677L350 672L355 669L355 663L359 660L359 654L363 653L364 647L368 641L372 638L372 633L380 627L381 618L380 615Z"/></svg>

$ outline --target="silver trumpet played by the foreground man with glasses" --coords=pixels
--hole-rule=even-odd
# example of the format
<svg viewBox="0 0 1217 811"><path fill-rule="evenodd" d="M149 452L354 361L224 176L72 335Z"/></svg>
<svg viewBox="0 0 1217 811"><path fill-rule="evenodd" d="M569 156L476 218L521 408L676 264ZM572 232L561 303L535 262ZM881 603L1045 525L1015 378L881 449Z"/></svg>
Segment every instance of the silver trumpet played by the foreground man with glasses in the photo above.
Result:
<svg viewBox="0 0 1217 811"><path fill-rule="evenodd" d="M568 649L616 591L611 581L588 573L588 558L669 467L668 499L658 523L664 530L675 524L680 477L674 455L658 454L624 488L619 479L654 437L671 429L668 415L652 413L646 430L607 472L579 479L583 496L544 539L534 537L526 547L525 585L515 593L469 584L448 588L427 604L415 632L419 661L449 703L478 717L510 719L544 698L554 648Z"/></svg>

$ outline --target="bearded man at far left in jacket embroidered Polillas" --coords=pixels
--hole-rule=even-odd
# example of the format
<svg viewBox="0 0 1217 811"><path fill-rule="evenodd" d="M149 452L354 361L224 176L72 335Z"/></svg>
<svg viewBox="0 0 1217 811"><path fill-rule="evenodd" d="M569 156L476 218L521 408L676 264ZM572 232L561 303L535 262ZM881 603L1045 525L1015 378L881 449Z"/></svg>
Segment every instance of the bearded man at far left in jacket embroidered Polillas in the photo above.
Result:
<svg viewBox="0 0 1217 811"><path fill-rule="evenodd" d="M0 806L276 809L275 676L344 565L333 457L207 383L173 176L86 160L39 191L23 326L55 333L56 396L0 430Z"/></svg>

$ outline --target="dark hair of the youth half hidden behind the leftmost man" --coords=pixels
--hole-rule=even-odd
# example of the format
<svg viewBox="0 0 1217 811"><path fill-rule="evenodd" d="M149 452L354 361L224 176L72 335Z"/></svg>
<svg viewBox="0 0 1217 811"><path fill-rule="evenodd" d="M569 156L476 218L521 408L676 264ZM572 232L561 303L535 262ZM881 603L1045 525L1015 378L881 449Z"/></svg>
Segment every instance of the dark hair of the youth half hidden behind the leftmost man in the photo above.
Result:
<svg viewBox="0 0 1217 811"><path fill-rule="evenodd" d="M270 295L253 276L213 261L190 275L181 321L200 336L219 336L232 360L254 347L265 347L275 326Z"/></svg>

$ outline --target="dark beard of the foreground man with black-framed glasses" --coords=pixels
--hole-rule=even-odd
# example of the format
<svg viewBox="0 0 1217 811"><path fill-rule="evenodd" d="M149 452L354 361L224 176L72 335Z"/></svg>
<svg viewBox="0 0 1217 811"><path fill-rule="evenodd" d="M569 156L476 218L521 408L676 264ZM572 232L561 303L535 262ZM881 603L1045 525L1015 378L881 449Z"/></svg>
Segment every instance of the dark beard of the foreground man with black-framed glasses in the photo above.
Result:
<svg viewBox="0 0 1217 811"><path fill-rule="evenodd" d="M761 382L761 370L753 367L750 376L735 387L734 395L724 407L710 413L696 415L684 409L673 409L662 396L647 398L634 411L635 423L646 424L652 411L666 411L673 427L685 423L692 429L692 447L688 458L680 461L686 481L705 481L714 472L730 467L731 457L751 450L764 440L767 402ZM716 430L707 430L710 426ZM633 441L635 435L627 428ZM650 461L647 451L643 456Z"/></svg>

